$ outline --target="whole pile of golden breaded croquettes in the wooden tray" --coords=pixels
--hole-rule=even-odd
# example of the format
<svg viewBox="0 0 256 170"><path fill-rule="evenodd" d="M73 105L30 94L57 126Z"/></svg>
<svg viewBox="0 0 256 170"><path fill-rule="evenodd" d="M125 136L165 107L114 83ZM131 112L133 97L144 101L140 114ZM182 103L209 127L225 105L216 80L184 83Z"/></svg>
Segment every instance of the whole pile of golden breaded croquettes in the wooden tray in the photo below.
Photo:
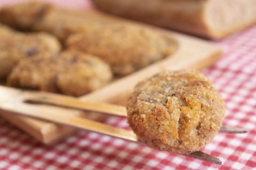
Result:
<svg viewBox="0 0 256 170"><path fill-rule="evenodd" d="M0 25L0 78L13 87L81 96L175 49L154 30L43 2L3 7L0 22L23 31Z"/></svg>

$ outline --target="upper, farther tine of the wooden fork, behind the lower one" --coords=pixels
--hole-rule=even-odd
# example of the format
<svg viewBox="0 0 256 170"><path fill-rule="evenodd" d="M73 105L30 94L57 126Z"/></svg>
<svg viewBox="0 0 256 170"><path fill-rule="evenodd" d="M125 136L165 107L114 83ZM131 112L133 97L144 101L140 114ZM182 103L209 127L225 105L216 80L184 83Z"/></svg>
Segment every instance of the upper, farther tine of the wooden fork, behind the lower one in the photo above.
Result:
<svg viewBox="0 0 256 170"><path fill-rule="evenodd" d="M75 97L70 97L70 96L40 92L40 93L34 93L32 95L29 95L24 100L28 102L51 104L51 105L56 105L60 107L96 111L96 112L106 113L110 115L126 117L126 108L124 106L116 105L116 104L108 104L108 103L84 102L76 99ZM222 126L219 132L246 133L247 131L245 129L241 129L237 127Z"/></svg>

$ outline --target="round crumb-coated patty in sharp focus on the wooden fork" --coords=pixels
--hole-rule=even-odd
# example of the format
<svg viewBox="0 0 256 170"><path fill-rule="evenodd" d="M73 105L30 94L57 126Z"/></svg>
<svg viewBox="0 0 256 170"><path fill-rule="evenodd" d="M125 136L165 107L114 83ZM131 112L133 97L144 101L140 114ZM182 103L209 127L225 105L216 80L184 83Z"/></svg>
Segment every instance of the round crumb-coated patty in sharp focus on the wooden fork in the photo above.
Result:
<svg viewBox="0 0 256 170"><path fill-rule="evenodd" d="M178 154L203 148L224 116L221 95L196 70L165 71L141 81L127 103L127 123L139 140Z"/></svg>

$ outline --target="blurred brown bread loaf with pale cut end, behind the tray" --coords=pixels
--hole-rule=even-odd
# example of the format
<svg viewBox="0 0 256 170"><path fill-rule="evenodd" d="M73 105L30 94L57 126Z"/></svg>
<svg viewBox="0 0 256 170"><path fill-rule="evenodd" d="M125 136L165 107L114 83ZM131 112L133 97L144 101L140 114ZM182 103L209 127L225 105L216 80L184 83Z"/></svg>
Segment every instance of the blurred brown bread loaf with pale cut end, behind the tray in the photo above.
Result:
<svg viewBox="0 0 256 170"><path fill-rule="evenodd" d="M93 0L110 14L220 39L256 23L255 0Z"/></svg>

